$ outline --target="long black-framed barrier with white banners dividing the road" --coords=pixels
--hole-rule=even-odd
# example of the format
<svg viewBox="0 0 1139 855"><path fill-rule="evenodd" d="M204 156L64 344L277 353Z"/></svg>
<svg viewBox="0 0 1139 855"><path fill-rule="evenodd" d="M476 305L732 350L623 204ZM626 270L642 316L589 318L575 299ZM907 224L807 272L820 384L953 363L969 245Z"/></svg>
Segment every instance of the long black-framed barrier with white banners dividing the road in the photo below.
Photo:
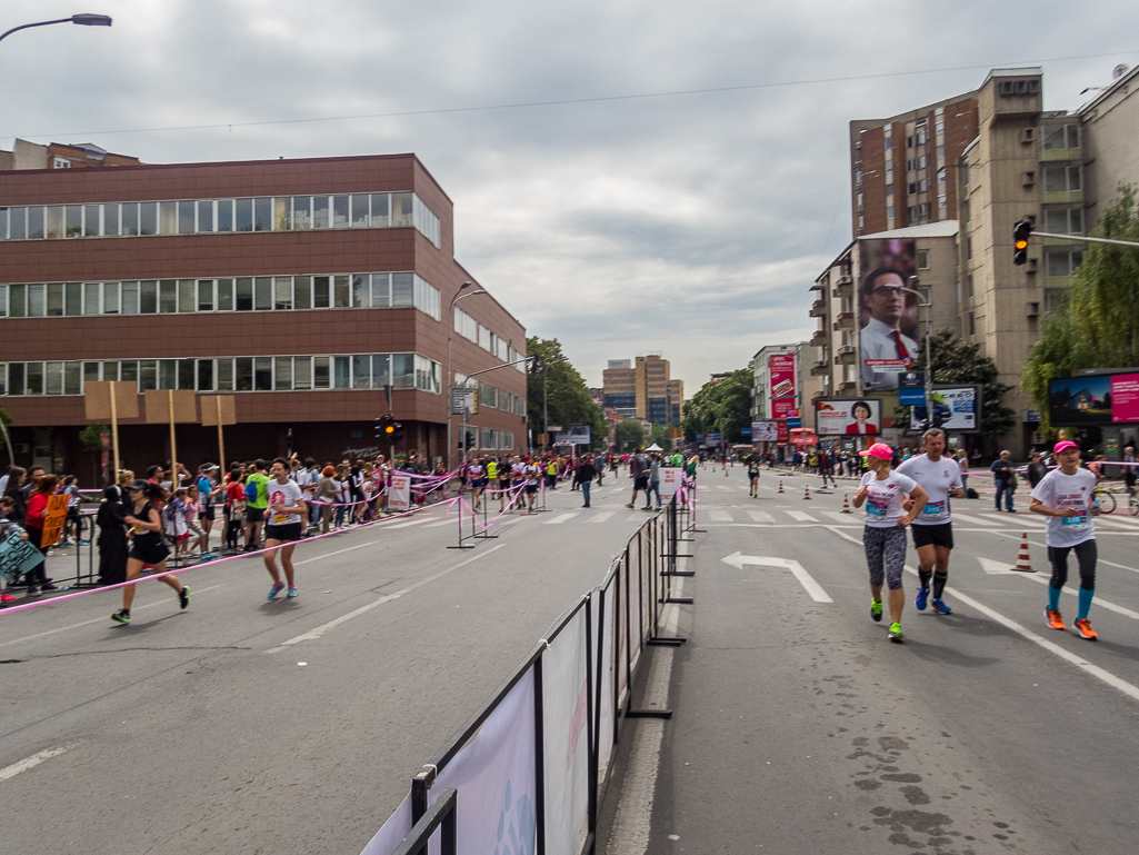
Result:
<svg viewBox="0 0 1139 855"><path fill-rule="evenodd" d="M672 715L633 709L631 695L646 645L686 641L662 636L659 621L665 604L691 602L672 592L695 502L689 484L646 519L600 585L412 779L362 855L595 850L623 723Z"/></svg>

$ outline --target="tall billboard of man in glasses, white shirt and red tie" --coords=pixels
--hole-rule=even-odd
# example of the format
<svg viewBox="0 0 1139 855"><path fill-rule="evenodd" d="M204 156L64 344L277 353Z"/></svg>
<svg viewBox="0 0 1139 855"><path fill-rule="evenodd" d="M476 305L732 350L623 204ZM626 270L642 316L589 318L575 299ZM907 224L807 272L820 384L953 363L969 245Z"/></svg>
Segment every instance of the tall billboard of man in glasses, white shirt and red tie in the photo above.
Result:
<svg viewBox="0 0 1139 855"><path fill-rule="evenodd" d="M898 389L898 375L918 357L918 299L913 238L859 241L859 323L862 390Z"/></svg>

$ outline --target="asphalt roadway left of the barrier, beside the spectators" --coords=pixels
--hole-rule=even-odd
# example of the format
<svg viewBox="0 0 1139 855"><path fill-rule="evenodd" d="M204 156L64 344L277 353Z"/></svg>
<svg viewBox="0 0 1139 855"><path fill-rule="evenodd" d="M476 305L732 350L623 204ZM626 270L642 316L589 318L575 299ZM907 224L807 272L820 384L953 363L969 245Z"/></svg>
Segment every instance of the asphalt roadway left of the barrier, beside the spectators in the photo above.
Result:
<svg viewBox="0 0 1139 855"><path fill-rule="evenodd" d="M245 557L185 573L185 612L141 583L129 626L117 592L0 613L0 849L360 852L601 581L648 516L628 490L563 487L474 549L440 511L305 543L294 601Z"/></svg>

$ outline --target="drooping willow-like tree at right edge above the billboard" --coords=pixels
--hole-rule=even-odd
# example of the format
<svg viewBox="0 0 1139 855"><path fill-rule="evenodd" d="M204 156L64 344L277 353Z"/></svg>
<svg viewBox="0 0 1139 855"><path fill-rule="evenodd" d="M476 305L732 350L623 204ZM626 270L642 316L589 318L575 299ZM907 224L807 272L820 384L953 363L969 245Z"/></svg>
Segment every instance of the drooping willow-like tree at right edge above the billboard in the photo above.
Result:
<svg viewBox="0 0 1139 855"><path fill-rule="evenodd" d="M1136 190L1120 187L1120 197L1091 233L1096 237L1139 242ZM1088 244L1083 263L1068 277L1060 310L1044 319L1040 340L1021 372L1021 385L1040 409L1040 430L1048 422L1048 381L1080 368L1139 366L1139 247Z"/></svg>

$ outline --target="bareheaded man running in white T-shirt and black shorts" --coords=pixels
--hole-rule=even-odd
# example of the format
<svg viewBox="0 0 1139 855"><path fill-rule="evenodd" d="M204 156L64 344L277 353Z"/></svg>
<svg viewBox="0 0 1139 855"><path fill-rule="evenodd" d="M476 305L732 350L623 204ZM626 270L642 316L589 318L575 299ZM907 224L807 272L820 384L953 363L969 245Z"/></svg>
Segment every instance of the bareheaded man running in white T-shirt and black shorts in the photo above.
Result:
<svg viewBox="0 0 1139 855"><path fill-rule="evenodd" d="M961 469L952 457L943 457L945 433L941 427L931 427L923 434L925 454L915 455L898 467L899 473L909 475L924 489L929 499L918 508L910 531L913 532L913 548L918 551L918 578L921 580L913 601L918 611L925 611L929 602L929 580L933 579L933 610L937 614L952 614L945 605L942 592L949 581L949 553L953 548L953 524L949 515L949 497L965 497L961 487ZM910 510L907 503L906 510Z"/></svg>

